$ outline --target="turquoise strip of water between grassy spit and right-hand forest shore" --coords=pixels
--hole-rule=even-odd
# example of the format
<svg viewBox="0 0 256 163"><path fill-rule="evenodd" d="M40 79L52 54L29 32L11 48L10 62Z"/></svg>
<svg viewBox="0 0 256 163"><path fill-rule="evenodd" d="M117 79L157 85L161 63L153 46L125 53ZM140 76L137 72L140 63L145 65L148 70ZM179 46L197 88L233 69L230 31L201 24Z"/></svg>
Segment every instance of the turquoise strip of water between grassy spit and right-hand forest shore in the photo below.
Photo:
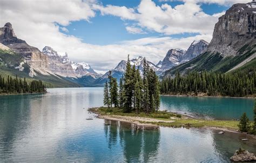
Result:
<svg viewBox="0 0 256 163"><path fill-rule="evenodd" d="M248 98L161 96L161 110L208 119L240 119L246 112L253 120L253 106L254 99Z"/></svg>

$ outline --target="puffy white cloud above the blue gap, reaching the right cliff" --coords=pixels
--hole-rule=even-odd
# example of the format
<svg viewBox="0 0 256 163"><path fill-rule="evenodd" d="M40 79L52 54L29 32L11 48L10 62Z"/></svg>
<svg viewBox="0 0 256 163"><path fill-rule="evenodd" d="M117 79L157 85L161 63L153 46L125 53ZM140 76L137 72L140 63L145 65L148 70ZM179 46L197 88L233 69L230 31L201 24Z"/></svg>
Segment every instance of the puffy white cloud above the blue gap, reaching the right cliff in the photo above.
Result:
<svg viewBox="0 0 256 163"><path fill-rule="evenodd" d="M131 20L136 22L137 26L165 35L185 32L212 34L214 24L220 15L207 15L199 4L190 0L186 0L184 4L176 5L174 8L169 4L156 5L151 0L142 0L136 10L112 5L105 7L94 5L94 8L99 10L102 15L113 15Z"/></svg>

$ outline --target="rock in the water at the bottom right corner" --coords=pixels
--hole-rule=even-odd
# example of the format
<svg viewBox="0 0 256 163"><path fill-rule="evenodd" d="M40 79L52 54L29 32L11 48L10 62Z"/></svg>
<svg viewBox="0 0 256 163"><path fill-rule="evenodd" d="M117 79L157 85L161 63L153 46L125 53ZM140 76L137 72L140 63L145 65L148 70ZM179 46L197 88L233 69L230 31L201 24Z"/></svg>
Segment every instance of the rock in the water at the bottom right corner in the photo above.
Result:
<svg viewBox="0 0 256 163"><path fill-rule="evenodd" d="M246 150L241 150L241 148L235 151L234 155L230 158L233 162L247 162L256 161L254 153L250 153Z"/></svg>

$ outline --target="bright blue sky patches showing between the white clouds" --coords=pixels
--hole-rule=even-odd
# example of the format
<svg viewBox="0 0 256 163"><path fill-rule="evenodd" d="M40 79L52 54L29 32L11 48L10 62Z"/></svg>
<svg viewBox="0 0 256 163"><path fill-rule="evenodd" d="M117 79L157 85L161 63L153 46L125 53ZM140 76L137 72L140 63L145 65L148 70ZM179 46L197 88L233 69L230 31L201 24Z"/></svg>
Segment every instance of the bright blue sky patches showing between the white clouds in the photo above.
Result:
<svg viewBox="0 0 256 163"><path fill-rule="evenodd" d="M173 8L176 5L184 4L184 2L160 2L154 0L156 5L169 4ZM102 0L100 1L102 5L117 5L117 6L126 6L127 8L136 8L140 1L138 0ZM208 15L213 15L214 13L223 12L230 8L230 5L218 5L218 4L201 4L201 9ZM60 30L60 32L67 35L73 35L78 38L81 38L84 43L89 44L98 44L98 45L108 45L108 44L118 44L123 40L133 40L144 37L161 37L161 36L170 36L172 38L181 38L181 37L191 37L196 36L198 33L179 33L175 35L164 35L163 33L155 31L147 31L145 33L129 33L125 29L127 24L132 25L134 21L122 20L117 16L112 15L100 15L99 11L96 11L96 16L88 21L75 21L71 22L70 25L65 26L69 32ZM62 25L60 25L62 26Z"/></svg>

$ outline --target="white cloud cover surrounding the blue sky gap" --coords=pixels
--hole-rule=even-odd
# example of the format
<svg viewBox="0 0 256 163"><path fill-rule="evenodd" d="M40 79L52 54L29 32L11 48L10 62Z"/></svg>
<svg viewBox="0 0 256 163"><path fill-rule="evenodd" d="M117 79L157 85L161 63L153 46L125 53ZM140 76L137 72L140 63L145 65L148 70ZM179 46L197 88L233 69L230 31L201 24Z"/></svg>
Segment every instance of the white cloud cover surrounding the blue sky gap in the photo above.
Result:
<svg viewBox="0 0 256 163"><path fill-rule="evenodd" d="M90 18L96 16L96 11L100 11L102 15L134 21L134 26L126 27L127 31L133 33L142 33L145 32L142 29L147 29L167 35L184 32L197 32L200 35L180 39L147 37L118 44L93 45L60 32L65 31L65 26L73 21L89 22ZM172 8L168 4L158 6L150 0L142 0L134 9L125 6L103 6L93 0L2 0L0 15L1 26L6 22L12 23L17 37L26 40L28 44L40 50L48 45L62 55L68 52L71 60L87 62L99 72L113 68L120 60L126 59L127 54L131 57L142 55L157 63L169 49L187 49L193 40L205 39L210 42L214 23L218 21L219 16L207 15L200 5L191 2Z"/></svg>

